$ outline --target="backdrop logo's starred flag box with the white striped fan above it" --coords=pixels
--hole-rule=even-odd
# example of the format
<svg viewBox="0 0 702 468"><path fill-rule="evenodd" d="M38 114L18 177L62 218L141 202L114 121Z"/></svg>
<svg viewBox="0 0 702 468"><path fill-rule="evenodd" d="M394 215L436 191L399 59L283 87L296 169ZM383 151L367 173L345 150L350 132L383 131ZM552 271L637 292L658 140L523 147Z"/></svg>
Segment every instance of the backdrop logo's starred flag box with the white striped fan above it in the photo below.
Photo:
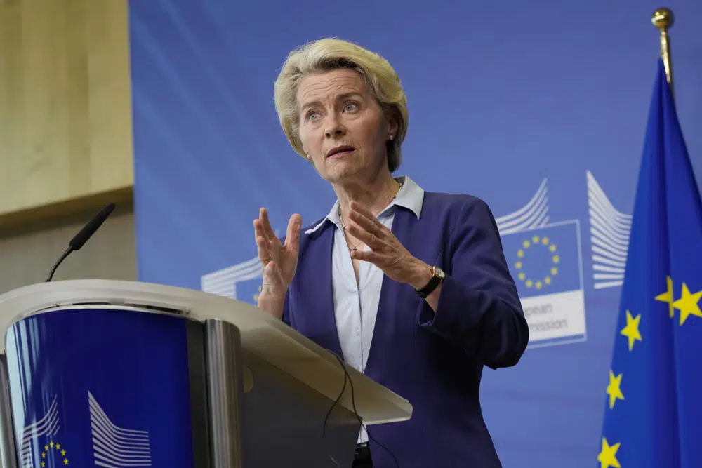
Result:
<svg viewBox="0 0 702 468"><path fill-rule="evenodd" d="M526 205L496 221L529 323L529 347L585 340L580 222L550 222L546 180Z"/></svg>

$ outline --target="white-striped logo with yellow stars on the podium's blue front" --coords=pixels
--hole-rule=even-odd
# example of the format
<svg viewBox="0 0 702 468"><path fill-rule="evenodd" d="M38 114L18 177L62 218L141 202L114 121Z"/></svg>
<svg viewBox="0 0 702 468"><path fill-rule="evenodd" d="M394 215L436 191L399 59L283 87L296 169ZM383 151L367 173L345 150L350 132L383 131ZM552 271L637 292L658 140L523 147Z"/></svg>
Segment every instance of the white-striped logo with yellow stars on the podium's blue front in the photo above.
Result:
<svg viewBox="0 0 702 468"><path fill-rule="evenodd" d="M91 420L92 464L72 456L67 434L60 432L57 398L39 420L22 429L21 468L96 466L104 468L151 467L149 433L124 429L112 423L95 397L88 392L86 412ZM74 434L72 434L74 436ZM75 439L72 439L75 441Z"/></svg>

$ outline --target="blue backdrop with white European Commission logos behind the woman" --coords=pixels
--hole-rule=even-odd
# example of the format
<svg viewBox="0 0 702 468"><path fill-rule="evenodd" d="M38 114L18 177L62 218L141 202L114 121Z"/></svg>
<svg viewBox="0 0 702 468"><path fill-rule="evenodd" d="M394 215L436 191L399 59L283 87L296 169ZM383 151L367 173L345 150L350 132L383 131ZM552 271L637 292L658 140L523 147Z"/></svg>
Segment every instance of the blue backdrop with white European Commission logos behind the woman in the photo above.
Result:
<svg viewBox="0 0 702 468"><path fill-rule="evenodd" d="M272 83L291 48L338 36L378 51L409 99L404 164L424 189L498 216L532 341L486 370L505 468L592 467L658 32L649 0L496 4L132 0L139 277L253 302L252 220L282 234L333 192L289 147ZM668 2L678 112L702 174L702 3ZM253 260L252 260L253 259Z"/></svg>

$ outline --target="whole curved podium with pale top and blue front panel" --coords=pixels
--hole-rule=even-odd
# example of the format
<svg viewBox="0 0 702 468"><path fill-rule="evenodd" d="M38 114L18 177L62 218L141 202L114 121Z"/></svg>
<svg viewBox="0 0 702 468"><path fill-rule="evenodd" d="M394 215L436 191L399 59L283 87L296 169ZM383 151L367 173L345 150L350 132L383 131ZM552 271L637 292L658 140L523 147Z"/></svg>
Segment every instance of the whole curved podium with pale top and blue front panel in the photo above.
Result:
<svg viewBox="0 0 702 468"><path fill-rule="evenodd" d="M0 296L2 467L350 467L401 396L227 297L133 281Z"/></svg>

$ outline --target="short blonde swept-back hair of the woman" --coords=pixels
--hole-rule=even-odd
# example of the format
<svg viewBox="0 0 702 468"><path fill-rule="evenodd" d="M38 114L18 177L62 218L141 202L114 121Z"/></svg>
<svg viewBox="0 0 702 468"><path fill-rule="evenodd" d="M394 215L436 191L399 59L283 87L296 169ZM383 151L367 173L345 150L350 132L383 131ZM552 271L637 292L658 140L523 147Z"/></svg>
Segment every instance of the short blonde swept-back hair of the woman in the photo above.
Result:
<svg viewBox="0 0 702 468"><path fill-rule="evenodd" d="M353 69L363 77L366 90L383 109L397 119L397 134L386 143L390 172L402 162L400 147L407 133L407 99L399 76L388 60L380 55L341 39L325 38L293 50L283 64L274 85L275 109L280 126L293 149L306 156L300 142L300 115L297 93L300 80L307 74L333 69Z"/></svg>

